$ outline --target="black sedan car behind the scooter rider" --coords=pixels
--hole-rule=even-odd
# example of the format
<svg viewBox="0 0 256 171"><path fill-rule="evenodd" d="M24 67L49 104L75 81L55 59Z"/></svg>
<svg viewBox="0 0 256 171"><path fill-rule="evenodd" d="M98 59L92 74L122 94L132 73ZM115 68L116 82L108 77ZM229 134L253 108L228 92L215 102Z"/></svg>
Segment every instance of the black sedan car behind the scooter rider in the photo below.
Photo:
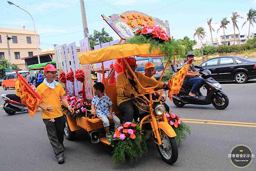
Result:
<svg viewBox="0 0 256 171"><path fill-rule="evenodd" d="M256 78L256 59L246 59L239 56L221 56L209 59L200 65L212 72L217 81L233 81L246 83Z"/></svg>

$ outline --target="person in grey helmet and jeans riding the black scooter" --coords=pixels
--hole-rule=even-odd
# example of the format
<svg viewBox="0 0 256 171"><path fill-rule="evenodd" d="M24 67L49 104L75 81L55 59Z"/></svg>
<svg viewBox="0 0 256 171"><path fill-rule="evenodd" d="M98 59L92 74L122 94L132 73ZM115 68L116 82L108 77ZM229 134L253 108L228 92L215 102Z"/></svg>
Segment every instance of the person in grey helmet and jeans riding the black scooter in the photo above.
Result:
<svg viewBox="0 0 256 171"><path fill-rule="evenodd" d="M194 61L194 53L192 51L187 53L187 59L188 61L193 60ZM188 64L187 62L185 62L182 66L185 66L186 64ZM192 87L190 92L189 92L189 96L191 96L192 98L197 99L198 96L196 96L197 93L201 94L199 92L199 89L201 87L201 84L204 81L204 78L199 77L201 74L199 72L196 71L195 69L195 65L194 64L190 64L189 66L189 70L187 72L187 75L184 79L183 84L189 87Z"/></svg>

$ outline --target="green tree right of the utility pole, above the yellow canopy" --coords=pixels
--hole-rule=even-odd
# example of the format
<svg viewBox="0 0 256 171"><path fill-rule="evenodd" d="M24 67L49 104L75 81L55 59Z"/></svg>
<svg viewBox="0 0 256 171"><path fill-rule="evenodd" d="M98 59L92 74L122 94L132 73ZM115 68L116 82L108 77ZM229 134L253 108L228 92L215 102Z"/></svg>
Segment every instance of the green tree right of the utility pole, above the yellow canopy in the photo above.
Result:
<svg viewBox="0 0 256 171"><path fill-rule="evenodd" d="M93 30L93 35L89 36L91 50L94 49L94 46L101 43L107 43L113 41L113 37L109 36L108 32L105 31L105 28L102 28L102 31Z"/></svg>

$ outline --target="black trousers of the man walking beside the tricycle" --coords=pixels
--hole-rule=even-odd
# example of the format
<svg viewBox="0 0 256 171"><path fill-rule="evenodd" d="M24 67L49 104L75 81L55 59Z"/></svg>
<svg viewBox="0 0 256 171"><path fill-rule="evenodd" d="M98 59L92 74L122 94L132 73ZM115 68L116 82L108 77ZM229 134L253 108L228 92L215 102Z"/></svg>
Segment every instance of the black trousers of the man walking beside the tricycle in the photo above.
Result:
<svg viewBox="0 0 256 171"><path fill-rule="evenodd" d="M52 145L55 157L64 157L64 128L65 128L65 118L64 116L54 118L55 122L50 122L50 119L43 119L47 136Z"/></svg>

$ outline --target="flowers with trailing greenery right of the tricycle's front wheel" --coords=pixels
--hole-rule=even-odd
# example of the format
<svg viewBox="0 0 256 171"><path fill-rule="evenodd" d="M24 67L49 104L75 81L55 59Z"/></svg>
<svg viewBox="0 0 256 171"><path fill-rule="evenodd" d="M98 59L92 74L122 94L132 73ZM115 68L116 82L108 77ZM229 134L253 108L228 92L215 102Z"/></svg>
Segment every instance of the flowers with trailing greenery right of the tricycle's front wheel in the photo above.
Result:
<svg viewBox="0 0 256 171"><path fill-rule="evenodd" d="M190 127L181 122L180 118L175 113L166 113L166 118L168 123L172 126L175 133L177 134L176 141L179 146L181 142L186 139L186 134L189 133L190 135Z"/></svg>

